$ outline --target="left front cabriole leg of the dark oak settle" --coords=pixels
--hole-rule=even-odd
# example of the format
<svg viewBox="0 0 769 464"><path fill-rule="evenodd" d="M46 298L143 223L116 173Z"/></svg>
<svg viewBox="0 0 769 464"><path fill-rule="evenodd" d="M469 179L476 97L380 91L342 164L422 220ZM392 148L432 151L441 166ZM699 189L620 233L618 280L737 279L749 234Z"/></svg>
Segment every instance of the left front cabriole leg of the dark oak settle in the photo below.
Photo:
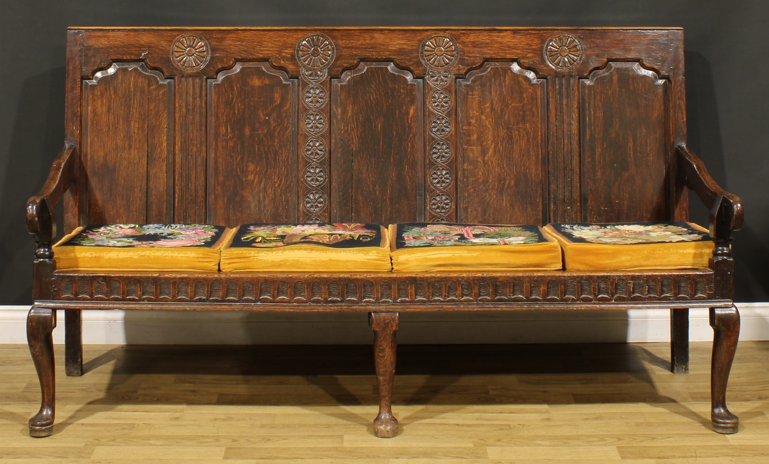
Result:
<svg viewBox="0 0 769 464"><path fill-rule="evenodd" d="M32 362L38 371L42 401L40 411L29 419L30 436L49 436L53 433L55 409L55 375L53 366L53 329L56 326L54 309L32 308L27 316L27 341Z"/></svg>

